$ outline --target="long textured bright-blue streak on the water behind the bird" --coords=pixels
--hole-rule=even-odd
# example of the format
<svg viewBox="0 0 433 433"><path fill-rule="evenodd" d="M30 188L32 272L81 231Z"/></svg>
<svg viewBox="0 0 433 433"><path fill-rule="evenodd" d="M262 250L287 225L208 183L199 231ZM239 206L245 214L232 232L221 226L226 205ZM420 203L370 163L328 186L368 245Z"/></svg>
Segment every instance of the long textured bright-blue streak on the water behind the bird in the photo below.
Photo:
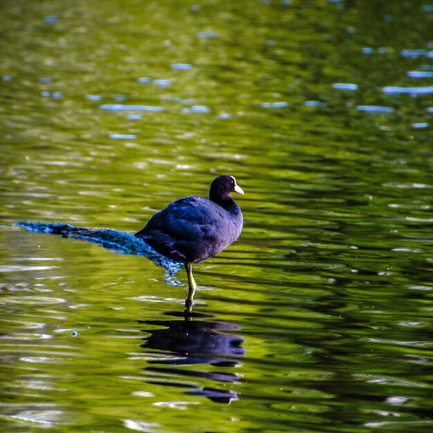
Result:
<svg viewBox="0 0 433 433"><path fill-rule="evenodd" d="M140 255L147 257L154 264L167 270L168 275L174 275L181 268L181 264L172 261L156 252L148 243L131 233L119 232L110 228L87 228L76 227L66 223L40 223L32 221L21 221L15 223L29 232L59 234L65 238L80 239L98 243L103 248L115 250L129 255Z"/></svg>

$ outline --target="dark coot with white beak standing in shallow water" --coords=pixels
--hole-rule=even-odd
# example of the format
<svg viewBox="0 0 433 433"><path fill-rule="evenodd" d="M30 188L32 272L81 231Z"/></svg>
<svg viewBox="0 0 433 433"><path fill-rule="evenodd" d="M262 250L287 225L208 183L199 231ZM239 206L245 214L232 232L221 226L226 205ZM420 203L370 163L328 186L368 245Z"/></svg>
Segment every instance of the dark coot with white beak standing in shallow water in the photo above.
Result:
<svg viewBox="0 0 433 433"><path fill-rule="evenodd" d="M233 176L219 176L210 185L209 199L178 199L136 233L160 254L184 264L188 276L187 312L192 309L196 288L192 264L218 254L241 234L243 216L231 192L243 194Z"/></svg>

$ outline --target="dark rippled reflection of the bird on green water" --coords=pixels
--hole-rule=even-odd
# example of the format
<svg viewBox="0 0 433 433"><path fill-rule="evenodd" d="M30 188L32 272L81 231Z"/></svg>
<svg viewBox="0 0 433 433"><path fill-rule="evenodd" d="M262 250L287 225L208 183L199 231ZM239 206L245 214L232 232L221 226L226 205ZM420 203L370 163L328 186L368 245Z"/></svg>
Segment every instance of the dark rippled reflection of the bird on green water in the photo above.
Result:
<svg viewBox="0 0 433 433"><path fill-rule="evenodd" d="M176 315L176 313L174 313ZM225 371L203 371L203 369L179 368L186 365L208 364L212 367L234 367L239 365L239 358L246 355L241 346L243 338L230 334L227 331L240 329L239 326L202 320L209 317L194 315L201 320L193 320L192 315L178 320L143 320L141 324L158 326L159 329L144 329L149 333L142 347L152 350L152 360L146 371L164 376L187 376L203 378L217 383L234 383L239 381L237 374ZM160 326L163 326L161 329ZM160 358L155 358L154 351L160 353ZM156 366L158 364L158 366ZM205 396L217 403L230 403L237 400L237 393L225 389L212 387L199 387L190 384L180 385L178 381L170 383L167 380L151 380L158 385L172 385L185 387L185 394Z"/></svg>

